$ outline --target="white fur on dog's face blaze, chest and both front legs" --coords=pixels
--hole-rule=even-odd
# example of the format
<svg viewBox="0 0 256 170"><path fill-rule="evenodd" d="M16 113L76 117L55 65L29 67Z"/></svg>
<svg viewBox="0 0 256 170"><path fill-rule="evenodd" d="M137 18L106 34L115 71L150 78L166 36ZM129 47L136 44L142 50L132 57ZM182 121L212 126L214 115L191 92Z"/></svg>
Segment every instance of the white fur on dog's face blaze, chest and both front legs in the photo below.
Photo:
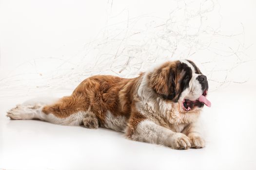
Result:
<svg viewBox="0 0 256 170"><path fill-rule="evenodd" d="M143 76L138 88L140 101L136 103L136 109L146 119L138 124L136 132L131 136L133 140L162 144L175 149L188 149L192 144L195 148L204 147L203 139L196 131L189 134L189 137L180 133L187 126L194 128L194 122L197 121L200 112L200 109L184 112L181 107L183 99L194 101L203 93L201 85L196 80L198 74L195 73L195 68L186 60L181 62L187 64L193 73L189 87L181 93L178 102L157 97L148 85L147 76L150 71Z"/></svg>

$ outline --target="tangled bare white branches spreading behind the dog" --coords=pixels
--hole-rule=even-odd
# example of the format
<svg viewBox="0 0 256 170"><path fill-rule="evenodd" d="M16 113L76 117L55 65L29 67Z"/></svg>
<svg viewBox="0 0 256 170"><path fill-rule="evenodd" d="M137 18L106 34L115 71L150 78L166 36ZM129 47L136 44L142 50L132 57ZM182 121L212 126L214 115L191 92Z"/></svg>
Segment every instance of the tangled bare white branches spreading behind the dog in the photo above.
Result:
<svg viewBox="0 0 256 170"><path fill-rule="evenodd" d="M113 1L108 5L111 9ZM214 0L177 0L167 19L150 15L129 18L127 12L127 19L107 25L76 57L25 62L34 66L33 71L2 78L0 90L29 89L31 93L63 86L72 89L95 74L134 77L154 63L175 59L199 63L212 89L232 82L244 83L245 80L230 77L239 64L250 60L246 55L250 46L245 47L243 42L244 27L239 24L239 33L222 33L219 10L220 5ZM59 65L51 72L43 72L37 70L41 60Z"/></svg>

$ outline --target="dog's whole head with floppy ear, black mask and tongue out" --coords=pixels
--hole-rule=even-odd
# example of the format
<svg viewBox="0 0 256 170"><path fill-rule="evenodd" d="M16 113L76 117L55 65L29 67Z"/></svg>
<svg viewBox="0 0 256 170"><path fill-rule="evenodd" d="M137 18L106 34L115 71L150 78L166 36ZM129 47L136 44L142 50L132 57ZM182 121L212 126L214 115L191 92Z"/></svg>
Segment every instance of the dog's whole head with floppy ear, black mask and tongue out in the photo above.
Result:
<svg viewBox="0 0 256 170"><path fill-rule="evenodd" d="M206 99L207 77L189 60L163 64L149 75L149 86L164 99L179 102L187 112L211 106Z"/></svg>

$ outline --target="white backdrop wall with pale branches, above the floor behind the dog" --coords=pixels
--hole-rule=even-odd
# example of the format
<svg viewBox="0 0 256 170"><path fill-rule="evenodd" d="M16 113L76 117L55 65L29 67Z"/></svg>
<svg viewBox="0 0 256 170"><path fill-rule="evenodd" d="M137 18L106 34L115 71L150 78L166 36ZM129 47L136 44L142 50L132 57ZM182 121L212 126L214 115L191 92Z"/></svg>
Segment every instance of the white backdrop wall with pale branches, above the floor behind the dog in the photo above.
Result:
<svg viewBox="0 0 256 170"><path fill-rule="evenodd" d="M94 74L134 77L179 58L194 60L211 90L254 84L255 6L253 0L1 0L0 91L12 97L7 89L24 89L16 96L73 89Z"/></svg>

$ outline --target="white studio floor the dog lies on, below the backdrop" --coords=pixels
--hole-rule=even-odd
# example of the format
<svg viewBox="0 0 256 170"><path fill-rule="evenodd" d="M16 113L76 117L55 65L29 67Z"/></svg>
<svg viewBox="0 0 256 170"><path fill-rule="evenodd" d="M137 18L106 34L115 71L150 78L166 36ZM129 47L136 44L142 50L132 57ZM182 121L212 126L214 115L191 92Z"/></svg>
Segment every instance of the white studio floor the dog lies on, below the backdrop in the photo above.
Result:
<svg viewBox="0 0 256 170"><path fill-rule="evenodd" d="M245 88L246 87L246 88ZM201 115L206 148L173 150L99 128L9 120L5 112L28 97L0 99L0 169L4 170L256 170L253 86L209 94Z"/></svg>

